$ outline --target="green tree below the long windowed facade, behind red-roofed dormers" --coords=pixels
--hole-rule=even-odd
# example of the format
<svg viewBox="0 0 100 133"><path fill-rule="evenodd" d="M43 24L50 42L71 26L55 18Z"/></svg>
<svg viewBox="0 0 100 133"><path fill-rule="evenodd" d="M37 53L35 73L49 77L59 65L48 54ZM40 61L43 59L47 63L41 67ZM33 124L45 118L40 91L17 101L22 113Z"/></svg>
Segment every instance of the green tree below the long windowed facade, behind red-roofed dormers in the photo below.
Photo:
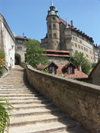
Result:
<svg viewBox="0 0 100 133"><path fill-rule="evenodd" d="M83 53L75 52L74 56L70 57L69 61L75 64L77 68L79 65L81 65L82 71L86 74L89 74L91 63L86 59L86 57L84 57Z"/></svg>

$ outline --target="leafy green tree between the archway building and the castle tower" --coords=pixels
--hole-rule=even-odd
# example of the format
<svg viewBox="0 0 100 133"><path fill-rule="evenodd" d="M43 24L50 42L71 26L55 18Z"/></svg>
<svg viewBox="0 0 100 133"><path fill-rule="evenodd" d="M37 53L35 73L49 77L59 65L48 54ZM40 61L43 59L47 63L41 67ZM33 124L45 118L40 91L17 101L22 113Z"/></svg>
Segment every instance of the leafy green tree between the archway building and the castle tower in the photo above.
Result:
<svg viewBox="0 0 100 133"><path fill-rule="evenodd" d="M44 49L39 47L39 41L29 39L25 41L24 44L26 47L26 62L28 64L36 68L39 64L46 65L48 63L47 56L43 53Z"/></svg>

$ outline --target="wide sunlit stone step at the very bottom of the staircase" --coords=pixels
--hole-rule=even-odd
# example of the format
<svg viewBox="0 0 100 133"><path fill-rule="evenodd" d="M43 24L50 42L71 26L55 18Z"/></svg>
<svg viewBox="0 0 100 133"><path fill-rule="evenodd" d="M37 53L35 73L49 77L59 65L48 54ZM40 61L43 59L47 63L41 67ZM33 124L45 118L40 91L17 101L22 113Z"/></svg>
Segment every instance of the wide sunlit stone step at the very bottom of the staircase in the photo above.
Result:
<svg viewBox="0 0 100 133"><path fill-rule="evenodd" d="M61 120L59 122L54 121L54 122L37 122L37 123L32 123L32 124L27 124L27 125L21 125L18 126L18 128L10 128L9 132L10 133L50 133L52 131L66 131L70 128L74 128L77 126L77 123L73 121L65 121Z"/></svg>

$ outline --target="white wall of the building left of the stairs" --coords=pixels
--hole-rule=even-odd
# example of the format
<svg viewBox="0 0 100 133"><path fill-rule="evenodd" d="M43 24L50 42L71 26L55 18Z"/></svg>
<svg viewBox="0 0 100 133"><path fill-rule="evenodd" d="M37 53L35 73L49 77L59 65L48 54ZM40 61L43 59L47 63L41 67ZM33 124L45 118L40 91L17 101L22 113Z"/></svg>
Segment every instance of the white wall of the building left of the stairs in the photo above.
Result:
<svg viewBox="0 0 100 133"><path fill-rule="evenodd" d="M5 53L6 67L14 68L15 38L2 14L0 14L0 49Z"/></svg>

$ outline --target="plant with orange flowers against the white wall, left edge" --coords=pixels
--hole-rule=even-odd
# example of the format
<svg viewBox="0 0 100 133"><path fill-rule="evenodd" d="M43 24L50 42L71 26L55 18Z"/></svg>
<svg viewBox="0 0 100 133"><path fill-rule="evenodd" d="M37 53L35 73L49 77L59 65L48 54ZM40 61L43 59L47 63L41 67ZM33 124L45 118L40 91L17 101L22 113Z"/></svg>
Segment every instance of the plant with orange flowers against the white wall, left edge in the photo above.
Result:
<svg viewBox="0 0 100 133"><path fill-rule="evenodd" d="M5 54L0 49L0 77L3 75L4 64L5 64Z"/></svg>

